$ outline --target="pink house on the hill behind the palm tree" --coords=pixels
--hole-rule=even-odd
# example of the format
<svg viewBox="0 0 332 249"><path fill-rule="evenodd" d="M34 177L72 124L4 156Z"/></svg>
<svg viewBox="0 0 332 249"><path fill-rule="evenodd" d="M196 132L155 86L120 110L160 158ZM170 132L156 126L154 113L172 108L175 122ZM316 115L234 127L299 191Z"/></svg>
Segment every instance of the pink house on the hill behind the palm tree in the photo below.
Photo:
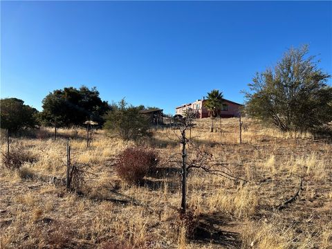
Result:
<svg viewBox="0 0 332 249"><path fill-rule="evenodd" d="M176 116L183 116L185 110L191 109L192 111L196 111L196 118L208 118L210 117L210 113L208 109L204 107L205 102L206 100L203 98L203 100L196 100L189 104L183 104L180 107L176 107L175 114ZM240 107L242 107L242 104L223 99L223 107L221 111L219 111L219 116L221 118L239 117Z"/></svg>

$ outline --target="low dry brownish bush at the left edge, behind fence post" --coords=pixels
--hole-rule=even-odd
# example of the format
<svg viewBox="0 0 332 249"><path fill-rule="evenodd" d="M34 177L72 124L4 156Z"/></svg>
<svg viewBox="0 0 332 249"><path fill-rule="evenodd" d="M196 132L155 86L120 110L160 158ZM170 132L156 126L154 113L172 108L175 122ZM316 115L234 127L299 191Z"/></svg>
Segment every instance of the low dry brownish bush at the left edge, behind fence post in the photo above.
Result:
<svg viewBox="0 0 332 249"><path fill-rule="evenodd" d="M37 160L30 151L24 149L23 145L12 145L10 147L9 155L2 152L2 162L8 169L19 169L24 163L35 163Z"/></svg>

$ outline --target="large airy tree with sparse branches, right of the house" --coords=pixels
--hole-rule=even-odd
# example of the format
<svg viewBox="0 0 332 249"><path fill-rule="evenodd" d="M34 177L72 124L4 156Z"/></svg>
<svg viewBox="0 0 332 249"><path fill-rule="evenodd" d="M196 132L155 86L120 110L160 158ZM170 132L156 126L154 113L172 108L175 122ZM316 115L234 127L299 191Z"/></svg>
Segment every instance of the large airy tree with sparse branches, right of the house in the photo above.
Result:
<svg viewBox="0 0 332 249"><path fill-rule="evenodd" d="M308 131L332 120L331 75L317 67L308 46L291 48L274 69L256 73L246 113L282 131Z"/></svg>

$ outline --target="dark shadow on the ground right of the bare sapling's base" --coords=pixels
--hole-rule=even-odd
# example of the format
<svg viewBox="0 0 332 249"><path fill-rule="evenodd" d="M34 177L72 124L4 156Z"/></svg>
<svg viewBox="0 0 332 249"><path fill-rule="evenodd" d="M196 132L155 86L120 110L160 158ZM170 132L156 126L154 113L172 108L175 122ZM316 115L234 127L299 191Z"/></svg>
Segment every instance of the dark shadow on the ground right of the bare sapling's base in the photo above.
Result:
<svg viewBox="0 0 332 249"><path fill-rule="evenodd" d="M225 231L222 228L234 226L230 219L220 214L201 214L194 239L199 243L214 243L225 248L241 248L238 232ZM222 227L222 228L220 228Z"/></svg>

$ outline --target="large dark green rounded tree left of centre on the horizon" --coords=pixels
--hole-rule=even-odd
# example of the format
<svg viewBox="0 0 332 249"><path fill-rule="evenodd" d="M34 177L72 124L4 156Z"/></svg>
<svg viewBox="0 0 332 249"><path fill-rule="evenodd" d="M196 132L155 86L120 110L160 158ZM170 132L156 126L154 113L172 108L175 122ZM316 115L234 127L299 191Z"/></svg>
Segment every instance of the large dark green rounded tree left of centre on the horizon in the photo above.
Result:
<svg viewBox="0 0 332 249"><path fill-rule="evenodd" d="M65 87L49 93L43 100L41 118L44 124L68 127L82 125L86 120L102 124L102 116L109 111L108 102L102 101L95 87L80 89Z"/></svg>

